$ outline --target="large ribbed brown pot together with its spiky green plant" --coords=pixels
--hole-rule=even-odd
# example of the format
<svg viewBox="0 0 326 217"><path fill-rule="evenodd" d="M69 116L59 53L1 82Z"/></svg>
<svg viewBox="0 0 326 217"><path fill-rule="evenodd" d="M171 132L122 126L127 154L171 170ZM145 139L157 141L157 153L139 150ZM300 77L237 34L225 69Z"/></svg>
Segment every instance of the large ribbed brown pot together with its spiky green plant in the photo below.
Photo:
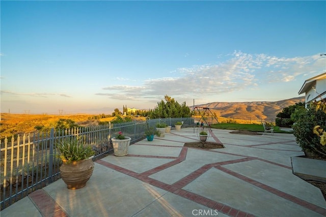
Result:
<svg viewBox="0 0 326 217"><path fill-rule="evenodd" d="M85 187L94 170L94 150L85 145L81 137L69 137L56 142L59 158L62 160L60 173L68 189Z"/></svg>

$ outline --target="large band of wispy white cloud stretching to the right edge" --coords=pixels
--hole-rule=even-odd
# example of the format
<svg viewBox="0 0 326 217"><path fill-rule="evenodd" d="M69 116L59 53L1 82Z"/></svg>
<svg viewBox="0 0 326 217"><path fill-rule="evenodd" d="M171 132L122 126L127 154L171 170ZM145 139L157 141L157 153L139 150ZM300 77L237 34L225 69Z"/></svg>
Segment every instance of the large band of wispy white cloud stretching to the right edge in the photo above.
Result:
<svg viewBox="0 0 326 217"><path fill-rule="evenodd" d="M288 58L234 51L230 55L221 64L179 68L174 72L179 77L146 80L143 86L107 86L102 89L112 91L110 94L96 95L129 100L162 99L164 95L196 98L255 89L259 84L291 82L298 76L309 77L325 70L326 57L319 54Z"/></svg>

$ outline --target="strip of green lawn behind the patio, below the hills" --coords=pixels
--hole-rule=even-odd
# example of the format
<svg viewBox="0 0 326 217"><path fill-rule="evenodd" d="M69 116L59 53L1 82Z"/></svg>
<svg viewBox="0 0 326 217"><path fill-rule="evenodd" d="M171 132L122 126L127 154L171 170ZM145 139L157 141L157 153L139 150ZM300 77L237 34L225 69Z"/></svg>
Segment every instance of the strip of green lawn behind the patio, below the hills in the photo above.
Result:
<svg viewBox="0 0 326 217"><path fill-rule="evenodd" d="M215 123L211 125L211 128L224 129L224 130L247 130L253 132L264 132L262 125L257 124L242 124L242 123ZM287 131L280 130L280 127L274 127L275 133L289 133Z"/></svg>

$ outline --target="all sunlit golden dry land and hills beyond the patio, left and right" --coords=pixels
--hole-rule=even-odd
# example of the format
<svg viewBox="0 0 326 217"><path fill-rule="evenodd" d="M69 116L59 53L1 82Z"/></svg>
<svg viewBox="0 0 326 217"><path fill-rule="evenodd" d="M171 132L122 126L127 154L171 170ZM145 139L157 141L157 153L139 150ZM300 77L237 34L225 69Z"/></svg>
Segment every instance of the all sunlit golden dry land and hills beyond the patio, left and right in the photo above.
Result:
<svg viewBox="0 0 326 217"><path fill-rule="evenodd" d="M284 107L303 102L304 97L281 100L277 102L213 102L199 107L210 108L212 114L218 117L220 122L227 122L230 119L237 123L260 123L263 121L273 122L276 115ZM193 107L191 106L191 109ZM70 119L77 125L88 127L99 125L100 122L108 122L115 117L103 117L104 114L13 114L1 113L1 138L11 137L17 134L33 133L35 127L44 126L45 128L55 127L58 120ZM195 121L200 119L200 115L194 116ZM134 120L145 121L145 117L133 117ZM211 119L213 119L211 117ZM209 120L210 121L210 120ZM214 122L214 121L211 121Z"/></svg>

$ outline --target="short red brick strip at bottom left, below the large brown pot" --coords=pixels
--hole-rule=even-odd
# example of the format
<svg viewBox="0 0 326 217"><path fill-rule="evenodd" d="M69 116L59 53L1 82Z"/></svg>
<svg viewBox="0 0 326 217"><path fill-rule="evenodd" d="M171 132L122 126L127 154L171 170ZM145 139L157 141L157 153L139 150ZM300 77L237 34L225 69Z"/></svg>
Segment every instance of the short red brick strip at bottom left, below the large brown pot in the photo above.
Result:
<svg viewBox="0 0 326 217"><path fill-rule="evenodd" d="M64 217L67 213L43 189L29 194L29 198L41 212L42 216Z"/></svg>

